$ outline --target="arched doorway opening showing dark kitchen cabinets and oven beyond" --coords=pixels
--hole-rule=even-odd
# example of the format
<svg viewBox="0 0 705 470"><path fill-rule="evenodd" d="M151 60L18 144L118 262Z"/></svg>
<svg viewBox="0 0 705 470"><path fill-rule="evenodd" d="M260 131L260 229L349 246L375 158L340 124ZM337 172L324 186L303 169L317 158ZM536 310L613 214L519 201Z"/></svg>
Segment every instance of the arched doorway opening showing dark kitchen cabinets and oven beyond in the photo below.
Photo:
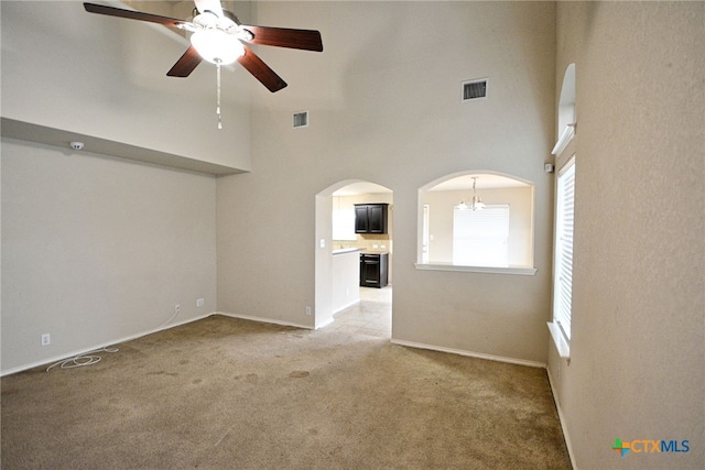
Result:
<svg viewBox="0 0 705 470"><path fill-rule="evenodd" d="M391 338L392 215L392 190L376 183L316 195L316 329Z"/></svg>

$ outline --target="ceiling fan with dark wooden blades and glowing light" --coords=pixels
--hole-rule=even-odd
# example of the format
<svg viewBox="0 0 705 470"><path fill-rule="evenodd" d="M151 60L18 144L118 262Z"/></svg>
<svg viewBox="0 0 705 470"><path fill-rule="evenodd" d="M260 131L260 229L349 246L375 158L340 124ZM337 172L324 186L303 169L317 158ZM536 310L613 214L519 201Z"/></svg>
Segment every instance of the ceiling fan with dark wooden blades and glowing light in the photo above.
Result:
<svg viewBox="0 0 705 470"><path fill-rule="evenodd" d="M274 92L284 88L286 83L243 43L323 51L323 42L318 31L240 24L235 14L223 9L219 0L195 0L194 2L196 4L194 13L197 14L194 15L193 21L96 3L84 3L84 8L90 13L149 21L192 32L191 46L166 73L170 77L187 77L204 59L216 64L218 73L220 65L232 64L237 61L270 91Z"/></svg>

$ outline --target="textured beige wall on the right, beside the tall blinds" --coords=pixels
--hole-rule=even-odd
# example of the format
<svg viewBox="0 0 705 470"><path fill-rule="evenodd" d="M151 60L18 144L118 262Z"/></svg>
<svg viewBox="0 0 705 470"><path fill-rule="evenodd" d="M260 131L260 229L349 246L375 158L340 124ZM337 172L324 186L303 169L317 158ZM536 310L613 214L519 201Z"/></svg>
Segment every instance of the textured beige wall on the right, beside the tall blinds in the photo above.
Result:
<svg viewBox="0 0 705 470"><path fill-rule="evenodd" d="M557 24L578 124L571 361L551 346L549 371L575 462L701 469L705 3L560 2Z"/></svg>

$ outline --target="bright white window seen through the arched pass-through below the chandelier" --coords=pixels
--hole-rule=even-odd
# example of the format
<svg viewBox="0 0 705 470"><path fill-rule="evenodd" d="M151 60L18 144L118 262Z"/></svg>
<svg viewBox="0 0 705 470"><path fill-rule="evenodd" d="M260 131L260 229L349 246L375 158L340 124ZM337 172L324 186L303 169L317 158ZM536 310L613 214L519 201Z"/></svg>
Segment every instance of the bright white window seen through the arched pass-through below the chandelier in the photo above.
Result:
<svg viewBox="0 0 705 470"><path fill-rule="evenodd" d="M453 211L453 264L509 265L509 205Z"/></svg>

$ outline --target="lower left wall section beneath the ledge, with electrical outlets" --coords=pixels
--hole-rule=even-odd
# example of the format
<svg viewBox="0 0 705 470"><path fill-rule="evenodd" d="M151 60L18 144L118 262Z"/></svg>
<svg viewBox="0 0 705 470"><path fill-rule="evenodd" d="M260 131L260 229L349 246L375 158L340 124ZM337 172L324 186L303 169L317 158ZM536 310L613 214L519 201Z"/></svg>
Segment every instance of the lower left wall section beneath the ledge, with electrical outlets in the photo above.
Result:
<svg viewBox="0 0 705 470"><path fill-rule="evenodd" d="M2 373L153 331L176 304L171 326L216 310L215 177L1 150Z"/></svg>

